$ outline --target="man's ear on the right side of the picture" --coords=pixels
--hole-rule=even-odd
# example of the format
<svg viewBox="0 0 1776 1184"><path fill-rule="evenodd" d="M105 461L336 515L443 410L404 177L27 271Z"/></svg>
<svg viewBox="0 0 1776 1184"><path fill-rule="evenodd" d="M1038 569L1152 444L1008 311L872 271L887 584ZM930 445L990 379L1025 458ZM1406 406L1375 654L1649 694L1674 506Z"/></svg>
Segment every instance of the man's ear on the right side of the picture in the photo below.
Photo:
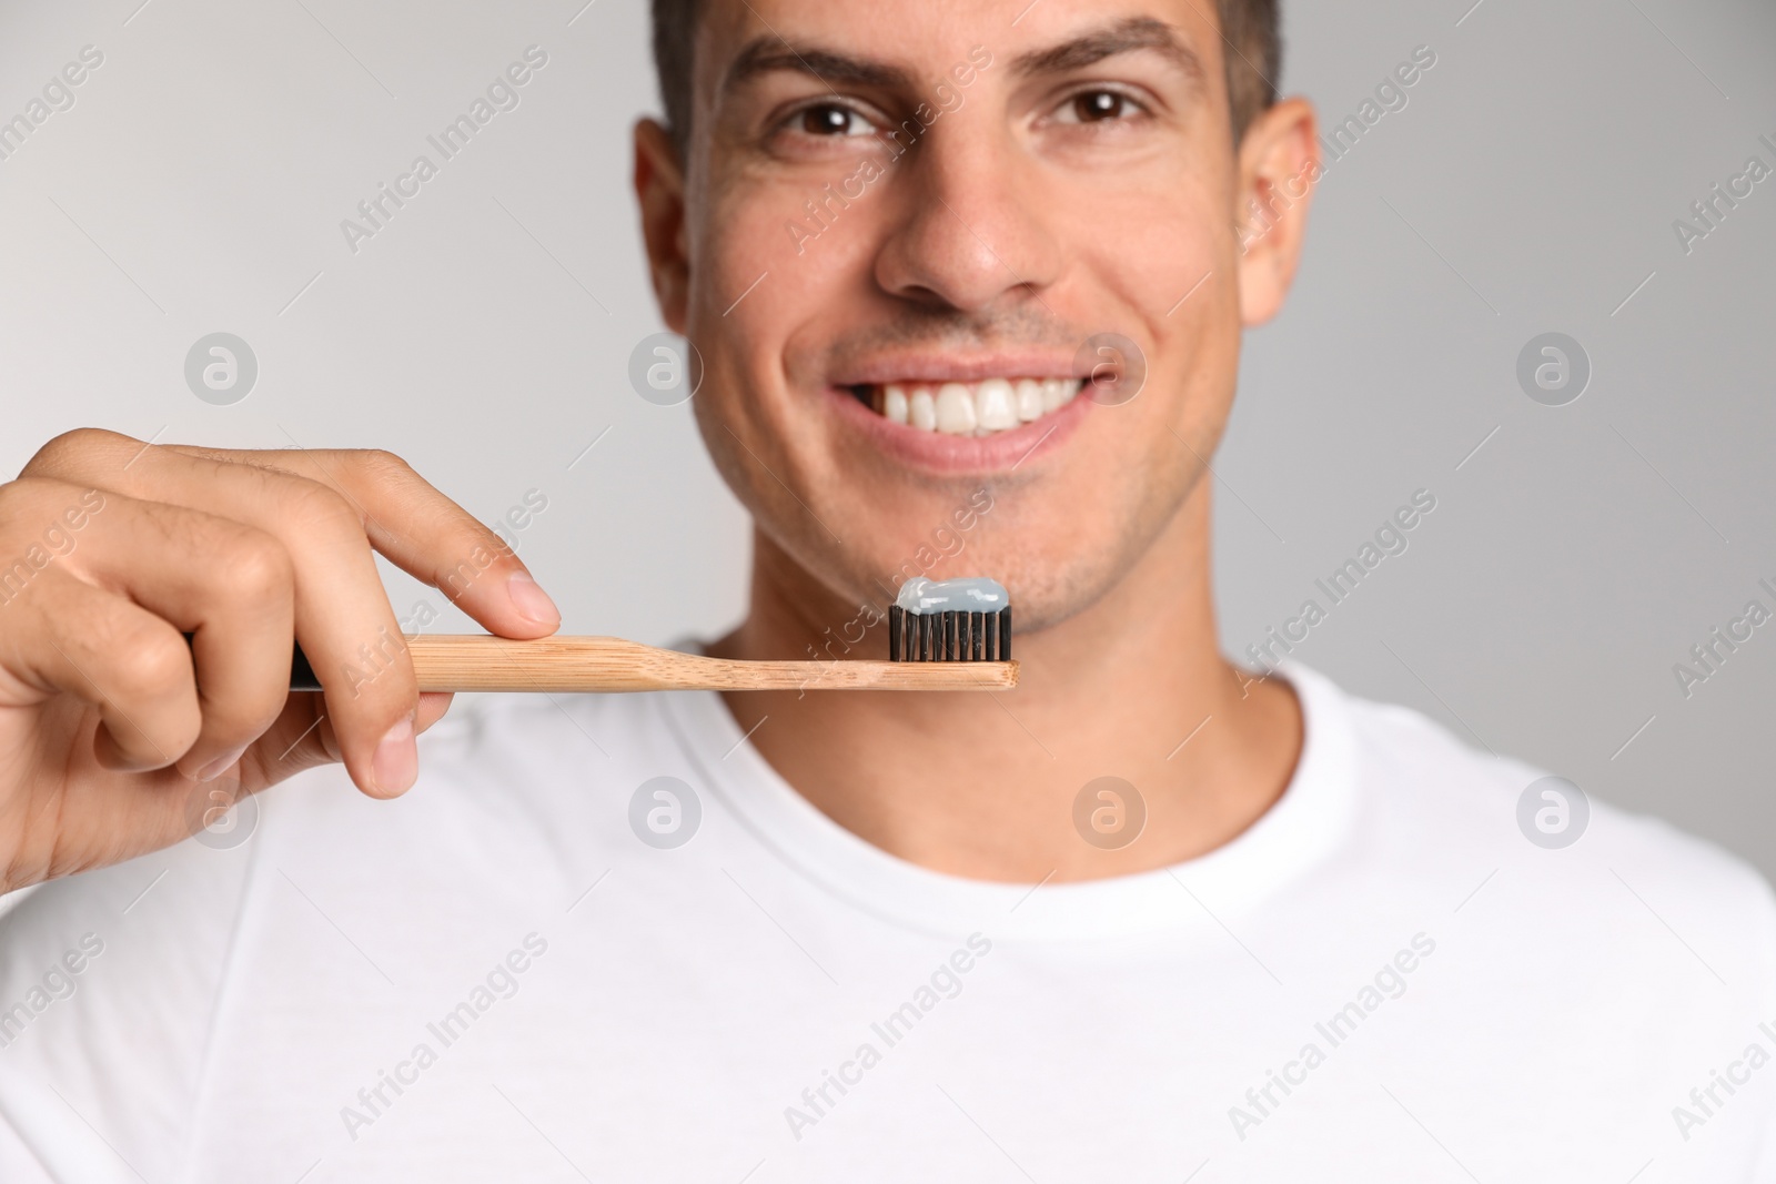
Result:
<svg viewBox="0 0 1776 1184"><path fill-rule="evenodd" d="M1240 316L1263 325L1282 307L1307 236L1307 206L1320 183L1314 108L1284 99L1261 114L1240 142Z"/></svg>

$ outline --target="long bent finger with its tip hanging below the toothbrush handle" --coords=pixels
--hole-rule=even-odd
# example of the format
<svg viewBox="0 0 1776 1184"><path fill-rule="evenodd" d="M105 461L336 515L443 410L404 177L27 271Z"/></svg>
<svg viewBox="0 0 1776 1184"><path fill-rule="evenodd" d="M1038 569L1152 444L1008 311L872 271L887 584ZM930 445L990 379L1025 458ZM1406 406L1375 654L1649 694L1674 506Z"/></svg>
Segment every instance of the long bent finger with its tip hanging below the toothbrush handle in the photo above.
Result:
<svg viewBox="0 0 1776 1184"><path fill-rule="evenodd" d="M130 444L96 433L82 447L39 453L32 465L275 536L295 573L295 635L325 689L327 726L352 781L373 797L405 792L419 770L419 687L357 511L329 486L279 469Z"/></svg>

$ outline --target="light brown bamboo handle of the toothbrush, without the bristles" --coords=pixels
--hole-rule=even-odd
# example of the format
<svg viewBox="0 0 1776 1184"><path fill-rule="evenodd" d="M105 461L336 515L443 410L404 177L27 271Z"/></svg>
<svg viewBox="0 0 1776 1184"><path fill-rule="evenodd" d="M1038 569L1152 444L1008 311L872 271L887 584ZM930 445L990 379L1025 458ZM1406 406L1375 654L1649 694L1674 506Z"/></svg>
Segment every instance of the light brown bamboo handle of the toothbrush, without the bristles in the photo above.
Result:
<svg viewBox="0 0 1776 1184"><path fill-rule="evenodd" d="M421 691L1007 691L1018 662L742 662L622 637L407 637ZM318 691L297 650L293 691ZM364 669L364 676L375 676Z"/></svg>

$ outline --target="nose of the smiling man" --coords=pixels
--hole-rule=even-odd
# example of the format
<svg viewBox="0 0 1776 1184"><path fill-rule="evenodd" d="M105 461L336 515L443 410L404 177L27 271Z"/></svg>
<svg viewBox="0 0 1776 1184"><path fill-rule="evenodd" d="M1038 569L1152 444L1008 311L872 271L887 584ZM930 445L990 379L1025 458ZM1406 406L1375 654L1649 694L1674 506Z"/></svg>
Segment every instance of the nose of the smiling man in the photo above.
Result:
<svg viewBox="0 0 1776 1184"><path fill-rule="evenodd" d="M984 115L940 115L900 156L904 217L876 257L883 291L982 312L1039 300L1058 279L1062 250L1043 217L1034 162Z"/></svg>

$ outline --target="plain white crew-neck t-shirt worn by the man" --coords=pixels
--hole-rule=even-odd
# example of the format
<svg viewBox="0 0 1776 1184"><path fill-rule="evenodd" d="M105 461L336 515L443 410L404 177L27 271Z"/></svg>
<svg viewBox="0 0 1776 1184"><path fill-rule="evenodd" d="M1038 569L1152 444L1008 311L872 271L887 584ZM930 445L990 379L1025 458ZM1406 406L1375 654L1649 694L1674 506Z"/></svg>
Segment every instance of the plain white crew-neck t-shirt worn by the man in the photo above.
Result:
<svg viewBox="0 0 1776 1184"><path fill-rule="evenodd" d="M1034 889L714 694L485 699L396 802L314 770L0 918L0 1180L1776 1180L1764 880L1595 802L1543 849L1536 770L1286 675L1256 825Z"/></svg>

